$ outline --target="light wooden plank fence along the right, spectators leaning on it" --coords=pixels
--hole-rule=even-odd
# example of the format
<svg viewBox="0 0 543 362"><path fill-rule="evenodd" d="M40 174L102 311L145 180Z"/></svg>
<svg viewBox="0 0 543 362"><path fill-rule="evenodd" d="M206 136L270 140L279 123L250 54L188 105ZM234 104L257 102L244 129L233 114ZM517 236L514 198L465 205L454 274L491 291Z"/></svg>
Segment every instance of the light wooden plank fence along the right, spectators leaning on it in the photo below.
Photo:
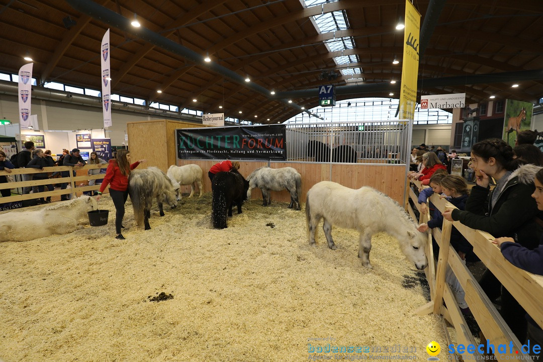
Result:
<svg viewBox="0 0 543 362"><path fill-rule="evenodd" d="M415 185L417 188L421 187L419 181L413 181L412 185ZM408 197L411 198L420 213L418 198L411 188L409 189ZM407 201L406 198L407 211L416 220L413 208ZM454 208L452 204L444 199L440 199L439 195L435 193L431 196L430 201L441 212L445 211L445 209ZM429 217L428 212L426 214L420 213L420 223L426 223ZM525 341L519 341L516 338L494 307L494 304L484 294L475 277L473 277L457 252L450 245L453 225L473 245L473 252L476 253L479 259L493 272L526 312L532 316L535 322L540 327L543 327L543 308L541 308L541 301L543 300L543 276L531 274L509 263L502 256L500 247L491 243L495 237L489 233L469 228L461 224L460 221L453 221L451 223L445 219L443 220L441 230L433 228L432 234L428 234L428 243L426 246L428 268L425 269L425 272L428 284L430 285L431 301L421 306L415 313L419 315L430 313L443 315L456 330L457 345L463 344L464 346L468 346L471 344L476 347L478 346L473 339L472 333L454 299L449 285L445 282L445 274L448 266L458 278L460 285L462 285L465 291L465 300L482 333L490 341L489 343L495 347L494 354L497 359L530 359L528 354L521 353L521 348L525 344ZM437 264L435 264L432 251L432 235L439 244L440 252ZM445 302L445 305L443 302ZM513 344L513 348L509 348L511 343ZM498 351L497 347L499 345L506 345L506 351ZM443 347L441 351L444 351ZM526 347L524 351L526 351ZM473 353L468 353L464 350L464 353L460 354L462 354L464 360L485 359L477 350L473 351ZM474 355L475 358L473 357Z"/></svg>

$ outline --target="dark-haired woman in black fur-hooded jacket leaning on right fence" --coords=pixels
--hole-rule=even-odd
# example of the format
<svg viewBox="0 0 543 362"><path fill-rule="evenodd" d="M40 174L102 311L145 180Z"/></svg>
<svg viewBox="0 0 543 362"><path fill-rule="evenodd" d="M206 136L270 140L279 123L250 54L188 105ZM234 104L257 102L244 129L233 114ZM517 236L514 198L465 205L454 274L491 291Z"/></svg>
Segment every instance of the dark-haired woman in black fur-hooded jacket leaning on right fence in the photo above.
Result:
<svg viewBox="0 0 543 362"><path fill-rule="evenodd" d="M513 149L502 139L490 138L473 145L472 167L476 185L471 189L465 211L445 211L443 217L473 229L486 231L494 236L513 238L522 246L534 249L539 245L540 227L535 217L538 208L532 198L534 176L539 167L519 167L520 160L513 158ZM497 181L490 191L490 177ZM487 270L479 281L491 301L502 297L501 315L519 340L526 336L525 311L514 297L502 288L497 278Z"/></svg>

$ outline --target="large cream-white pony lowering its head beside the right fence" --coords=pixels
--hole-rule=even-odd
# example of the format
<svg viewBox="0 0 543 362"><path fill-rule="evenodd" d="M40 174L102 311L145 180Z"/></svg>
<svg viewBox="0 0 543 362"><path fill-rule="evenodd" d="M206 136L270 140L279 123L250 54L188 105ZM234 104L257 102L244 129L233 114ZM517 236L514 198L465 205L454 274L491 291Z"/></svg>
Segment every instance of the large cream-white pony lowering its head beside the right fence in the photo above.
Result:
<svg viewBox="0 0 543 362"><path fill-rule="evenodd" d="M310 245L315 246L315 231L323 218L324 234L332 250L336 249L332 225L360 233L358 257L367 268L371 268L371 236L382 231L398 240L400 249L417 269L422 270L428 264L424 252L426 234L416 230L415 222L396 201L371 187L354 190L330 181L315 184L307 192L306 199Z"/></svg>

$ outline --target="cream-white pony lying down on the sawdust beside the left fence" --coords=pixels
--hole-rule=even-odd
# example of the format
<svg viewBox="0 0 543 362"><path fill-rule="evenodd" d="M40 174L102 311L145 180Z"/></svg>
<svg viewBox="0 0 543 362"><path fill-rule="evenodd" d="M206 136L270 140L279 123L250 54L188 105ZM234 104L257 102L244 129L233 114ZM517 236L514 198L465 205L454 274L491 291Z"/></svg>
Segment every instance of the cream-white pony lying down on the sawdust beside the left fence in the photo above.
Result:
<svg viewBox="0 0 543 362"><path fill-rule="evenodd" d="M0 242L26 242L70 233L83 227L79 224L88 224L87 212L97 208L96 200L90 196L80 196L46 208L4 213L0 215Z"/></svg>

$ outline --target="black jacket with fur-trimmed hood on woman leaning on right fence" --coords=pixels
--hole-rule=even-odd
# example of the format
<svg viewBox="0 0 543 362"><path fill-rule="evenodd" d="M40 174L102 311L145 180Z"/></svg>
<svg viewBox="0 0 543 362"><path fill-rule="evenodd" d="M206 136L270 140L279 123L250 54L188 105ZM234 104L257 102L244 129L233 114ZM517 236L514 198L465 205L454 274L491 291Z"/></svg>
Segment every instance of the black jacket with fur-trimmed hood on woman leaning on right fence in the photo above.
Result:
<svg viewBox="0 0 543 362"><path fill-rule="evenodd" d="M539 245L541 227L535 221L538 207L532 193L539 169L533 164L517 168L507 179L494 208L490 204L490 189L473 186L465 211L454 209L452 219L496 238L510 237L528 249L535 249Z"/></svg>

